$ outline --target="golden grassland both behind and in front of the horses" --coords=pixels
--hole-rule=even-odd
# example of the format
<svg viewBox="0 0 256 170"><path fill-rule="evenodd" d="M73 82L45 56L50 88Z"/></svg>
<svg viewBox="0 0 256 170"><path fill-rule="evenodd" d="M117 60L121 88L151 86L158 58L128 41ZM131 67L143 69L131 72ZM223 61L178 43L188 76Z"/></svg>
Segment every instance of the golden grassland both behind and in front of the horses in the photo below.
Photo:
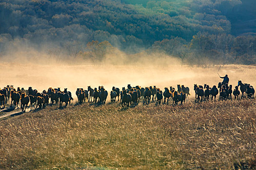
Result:
<svg viewBox="0 0 256 170"><path fill-rule="evenodd" d="M13 67L15 66L15 67ZM184 105L141 103L122 109L118 102L58 105L0 120L0 169L150 170L256 169L256 100L195 103L193 85L217 85L214 68L66 66L5 64L3 87L39 91L104 85L184 84L192 96ZM256 86L255 66L224 66L233 87ZM108 97L109 98L109 97Z"/></svg>

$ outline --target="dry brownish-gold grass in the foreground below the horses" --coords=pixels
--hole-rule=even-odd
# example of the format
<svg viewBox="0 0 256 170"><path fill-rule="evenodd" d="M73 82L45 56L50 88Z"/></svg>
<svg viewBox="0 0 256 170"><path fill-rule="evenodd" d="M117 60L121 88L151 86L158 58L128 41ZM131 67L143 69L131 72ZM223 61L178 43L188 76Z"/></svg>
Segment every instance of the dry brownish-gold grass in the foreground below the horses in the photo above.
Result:
<svg viewBox="0 0 256 170"><path fill-rule="evenodd" d="M0 121L0 169L256 168L256 101L57 106Z"/></svg>

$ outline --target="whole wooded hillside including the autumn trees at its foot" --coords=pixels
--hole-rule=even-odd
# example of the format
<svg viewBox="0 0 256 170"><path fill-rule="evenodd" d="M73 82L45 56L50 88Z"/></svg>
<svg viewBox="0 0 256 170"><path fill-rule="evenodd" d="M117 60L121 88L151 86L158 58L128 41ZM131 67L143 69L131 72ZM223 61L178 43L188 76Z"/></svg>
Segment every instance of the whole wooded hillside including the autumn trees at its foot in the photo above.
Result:
<svg viewBox="0 0 256 170"><path fill-rule="evenodd" d="M95 44L104 42L128 53L164 51L182 62L254 64L250 4L254 0L2 0L0 54L25 41L37 49L48 45L54 55L64 50L100 61L106 50Z"/></svg>

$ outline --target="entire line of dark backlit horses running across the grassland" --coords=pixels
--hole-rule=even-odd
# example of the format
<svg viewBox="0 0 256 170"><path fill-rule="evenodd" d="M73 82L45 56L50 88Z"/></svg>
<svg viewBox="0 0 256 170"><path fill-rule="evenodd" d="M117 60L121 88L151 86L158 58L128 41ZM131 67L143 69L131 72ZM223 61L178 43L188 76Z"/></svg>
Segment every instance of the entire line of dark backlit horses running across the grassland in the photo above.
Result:
<svg viewBox="0 0 256 170"><path fill-rule="evenodd" d="M232 99L232 94L234 95L234 99L238 99L240 95L240 91L238 87L240 86L241 98L254 98L255 89L250 84L243 84L240 80L238 81L235 89L232 89L232 85L218 83L218 85L214 85L210 87L207 84L202 85L194 85L194 91L196 94L196 102L201 101L209 101L209 98L213 100L216 99L219 94L219 100L229 100ZM94 102L97 104L106 103L108 97L108 91L103 86L98 86L92 88L88 86L87 89L77 88L76 95L78 98L78 102L81 104L83 102ZM123 108L128 108L130 105L138 105L140 101L144 104L149 104L152 102L156 102L156 104L169 104L169 101L172 100L172 104L180 104L185 103L186 98L190 95L189 87L185 87L184 85L177 85L177 89L170 86L170 88L165 87L162 91L160 88L156 86L149 87L141 87L136 85L132 87L130 84L127 85L127 88L122 87L120 90L118 87L113 86L110 92L110 101L116 102L120 101ZM52 88L49 87L48 90L43 90L41 93L29 87L27 90L24 88L18 87L17 90L13 87L13 85L7 85L3 89L0 89L0 106L5 107L5 103L11 101L14 104L14 108L18 107L18 103L20 102L20 108L25 112L28 104L30 103L30 107L34 107L37 109L45 108L48 104L58 104L59 108L62 107L63 102L65 106L70 104L70 102L74 100L72 98L72 94L67 88L64 91L61 91L60 88Z"/></svg>

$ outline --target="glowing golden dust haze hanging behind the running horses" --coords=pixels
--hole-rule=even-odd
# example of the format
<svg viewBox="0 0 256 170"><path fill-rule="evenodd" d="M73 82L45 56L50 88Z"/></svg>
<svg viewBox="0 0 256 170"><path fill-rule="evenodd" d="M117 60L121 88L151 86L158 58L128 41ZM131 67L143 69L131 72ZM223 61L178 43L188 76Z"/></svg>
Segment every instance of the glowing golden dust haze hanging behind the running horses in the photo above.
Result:
<svg viewBox="0 0 256 170"><path fill-rule="evenodd" d="M38 55L38 56L37 56ZM217 85L222 79L218 77L219 66L211 68L191 67L181 65L178 59L164 54L136 54L133 56L108 56L110 62L93 65L83 60L63 62L49 56L12 58L0 63L0 87L14 85L28 89L38 89L40 92L48 87L68 88L75 97L77 88L87 89L88 85L98 87L103 85L110 93L112 86L127 87L141 85L143 87L156 85L161 90L164 87L185 85L190 88L190 94L195 96L194 84ZM142 57L141 57L142 56ZM46 58L46 59L45 59ZM112 58L110 60L109 58ZM114 62L114 63L113 63ZM225 65L218 72L221 76L228 74L233 88L238 80L256 85L256 67L243 65ZM76 97L75 97L76 98ZM109 96L108 96L109 98Z"/></svg>

